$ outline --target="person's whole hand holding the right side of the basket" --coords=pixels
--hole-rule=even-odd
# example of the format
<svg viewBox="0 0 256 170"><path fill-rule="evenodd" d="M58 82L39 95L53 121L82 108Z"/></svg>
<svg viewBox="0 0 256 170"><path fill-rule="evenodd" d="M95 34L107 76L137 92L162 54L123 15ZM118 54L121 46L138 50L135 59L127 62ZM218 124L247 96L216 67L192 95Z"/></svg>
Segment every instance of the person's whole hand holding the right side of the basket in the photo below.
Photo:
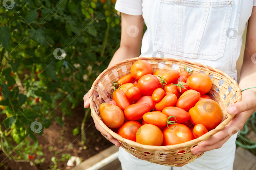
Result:
<svg viewBox="0 0 256 170"><path fill-rule="evenodd" d="M245 90L242 93L242 101L230 105L227 111L230 115L235 117L229 122L224 129L214 134L210 139L198 144L194 147L191 152L195 155L220 148L238 129L244 127L247 119L256 110L256 93L253 90Z"/></svg>

